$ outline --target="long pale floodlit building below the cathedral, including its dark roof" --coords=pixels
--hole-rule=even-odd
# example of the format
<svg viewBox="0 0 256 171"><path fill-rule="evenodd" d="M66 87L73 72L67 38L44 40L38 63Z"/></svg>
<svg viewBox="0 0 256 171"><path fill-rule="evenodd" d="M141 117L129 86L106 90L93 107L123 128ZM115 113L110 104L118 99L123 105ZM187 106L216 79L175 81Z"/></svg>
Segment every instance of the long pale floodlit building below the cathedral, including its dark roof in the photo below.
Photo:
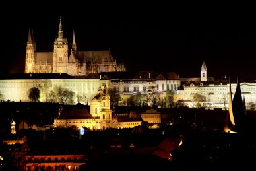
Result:
<svg viewBox="0 0 256 171"><path fill-rule="evenodd" d="M81 103L90 104L92 98L97 94L100 86L100 77L97 74L72 77L65 73L45 74L11 74L1 77L0 92L3 94L1 100L14 102L28 102L30 88L36 87L40 90L40 102L51 102L49 94L55 88L61 87L75 92L74 102L77 103L77 96L86 97Z"/></svg>

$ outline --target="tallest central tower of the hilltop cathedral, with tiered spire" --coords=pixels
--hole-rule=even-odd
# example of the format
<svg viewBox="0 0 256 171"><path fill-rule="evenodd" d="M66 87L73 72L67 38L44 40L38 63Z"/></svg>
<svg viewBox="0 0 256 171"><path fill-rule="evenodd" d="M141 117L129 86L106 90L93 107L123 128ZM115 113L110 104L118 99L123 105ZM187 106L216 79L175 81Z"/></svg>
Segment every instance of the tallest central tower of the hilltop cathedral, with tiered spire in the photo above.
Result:
<svg viewBox="0 0 256 171"><path fill-rule="evenodd" d="M58 38L55 38L53 48L53 73L67 73L68 44L63 36L61 18L59 21Z"/></svg>

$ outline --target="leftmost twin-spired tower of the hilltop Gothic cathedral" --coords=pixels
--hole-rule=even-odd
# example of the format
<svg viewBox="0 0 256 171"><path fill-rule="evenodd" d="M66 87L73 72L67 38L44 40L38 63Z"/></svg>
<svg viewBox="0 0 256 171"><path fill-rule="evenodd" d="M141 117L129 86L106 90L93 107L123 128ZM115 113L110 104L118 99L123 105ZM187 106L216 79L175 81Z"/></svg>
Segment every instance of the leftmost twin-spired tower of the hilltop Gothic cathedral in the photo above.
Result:
<svg viewBox="0 0 256 171"><path fill-rule="evenodd" d="M33 32L28 29L28 42L26 48L26 59L25 59L25 72L24 73L35 73L35 59L36 59L36 43L34 42Z"/></svg>

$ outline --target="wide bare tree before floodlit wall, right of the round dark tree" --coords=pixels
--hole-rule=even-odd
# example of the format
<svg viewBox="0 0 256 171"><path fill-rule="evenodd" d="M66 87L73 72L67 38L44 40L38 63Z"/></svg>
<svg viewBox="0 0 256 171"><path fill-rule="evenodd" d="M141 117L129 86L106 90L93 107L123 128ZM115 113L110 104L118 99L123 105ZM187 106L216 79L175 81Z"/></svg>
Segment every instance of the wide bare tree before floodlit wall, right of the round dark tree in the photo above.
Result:
<svg viewBox="0 0 256 171"><path fill-rule="evenodd" d="M75 95L75 92L67 90L67 88L57 87L55 88L55 92L57 95L57 99L59 99L59 102L62 104L73 104L73 96Z"/></svg>

